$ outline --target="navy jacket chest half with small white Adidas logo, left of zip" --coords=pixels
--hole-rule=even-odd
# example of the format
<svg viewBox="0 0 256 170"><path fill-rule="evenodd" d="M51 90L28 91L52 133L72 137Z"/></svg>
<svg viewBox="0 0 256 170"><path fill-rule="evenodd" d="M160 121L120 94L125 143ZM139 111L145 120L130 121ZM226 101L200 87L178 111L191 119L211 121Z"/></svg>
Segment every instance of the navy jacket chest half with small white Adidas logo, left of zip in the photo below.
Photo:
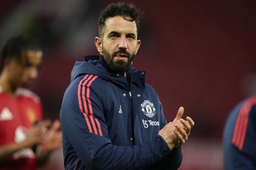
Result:
<svg viewBox="0 0 256 170"><path fill-rule="evenodd" d="M105 95L104 115L111 141L115 145L131 145L133 123L129 94L119 88L109 88Z"/></svg>

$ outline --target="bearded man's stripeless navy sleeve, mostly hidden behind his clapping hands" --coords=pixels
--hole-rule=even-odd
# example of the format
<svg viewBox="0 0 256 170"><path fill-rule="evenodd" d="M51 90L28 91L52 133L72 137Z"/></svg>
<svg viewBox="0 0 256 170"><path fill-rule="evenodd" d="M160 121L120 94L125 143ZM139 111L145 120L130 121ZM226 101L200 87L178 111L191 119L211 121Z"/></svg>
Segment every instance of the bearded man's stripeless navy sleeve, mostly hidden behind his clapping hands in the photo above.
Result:
<svg viewBox="0 0 256 170"><path fill-rule="evenodd" d="M167 122L163 114L163 107L161 103L160 103L160 111L161 111L160 129L163 129L164 126L167 124ZM163 158L160 162L156 163L155 167L157 167L157 169L163 169L163 170L178 169L181 165L182 158L183 158L183 155L182 155L181 146L180 146L178 148L174 148L169 155Z"/></svg>

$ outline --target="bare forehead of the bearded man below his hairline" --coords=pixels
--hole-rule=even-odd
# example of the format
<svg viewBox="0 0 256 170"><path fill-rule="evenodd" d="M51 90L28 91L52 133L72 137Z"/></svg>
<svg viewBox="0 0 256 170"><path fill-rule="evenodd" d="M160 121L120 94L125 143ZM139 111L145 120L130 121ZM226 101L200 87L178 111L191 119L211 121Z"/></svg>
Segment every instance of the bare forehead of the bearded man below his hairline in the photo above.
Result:
<svg viewBox="0 0 256 170"><path fill-rule="evenodd" d="M131 18L123 16L108 18L105 22L105 34L107 35L111 31L117 31L120 33L134 33L137 35L137 25L135 21L125 19L130 20Z"/></svg>

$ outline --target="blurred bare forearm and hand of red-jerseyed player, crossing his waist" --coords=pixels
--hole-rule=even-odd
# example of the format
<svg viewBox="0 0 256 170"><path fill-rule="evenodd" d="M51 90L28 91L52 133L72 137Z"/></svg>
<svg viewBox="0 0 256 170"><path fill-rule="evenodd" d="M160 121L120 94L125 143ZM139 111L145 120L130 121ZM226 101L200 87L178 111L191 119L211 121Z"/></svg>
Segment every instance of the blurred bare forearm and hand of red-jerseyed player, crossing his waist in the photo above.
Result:
<svg viewBox="0 0 256 170"><path fill-rule="evenodd" d="M49 126L49 121L42 121L41 123L34 125L27 133L27 137L20 143L11 142L0 147L0 162L3 162L6 158L11 156L14 152L29 148L41 143L44 138L44 126Z"/></svg>

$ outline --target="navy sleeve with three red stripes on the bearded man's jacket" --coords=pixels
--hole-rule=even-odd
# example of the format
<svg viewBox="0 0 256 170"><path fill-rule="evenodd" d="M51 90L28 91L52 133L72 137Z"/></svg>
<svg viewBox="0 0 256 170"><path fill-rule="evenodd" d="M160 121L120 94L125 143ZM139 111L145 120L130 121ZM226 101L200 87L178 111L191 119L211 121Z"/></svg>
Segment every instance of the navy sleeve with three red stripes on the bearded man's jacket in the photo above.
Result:
<svg viewBox="0 0 256 170"><path fill-rule="evenodd" d="M113 145L99 97L104 93L104 86L97 82L97 76L90 80L93 79L71 83L60 112L62 130L86 168L137 169L154 164L170 153L159 136L141 145Z"/></svg>

